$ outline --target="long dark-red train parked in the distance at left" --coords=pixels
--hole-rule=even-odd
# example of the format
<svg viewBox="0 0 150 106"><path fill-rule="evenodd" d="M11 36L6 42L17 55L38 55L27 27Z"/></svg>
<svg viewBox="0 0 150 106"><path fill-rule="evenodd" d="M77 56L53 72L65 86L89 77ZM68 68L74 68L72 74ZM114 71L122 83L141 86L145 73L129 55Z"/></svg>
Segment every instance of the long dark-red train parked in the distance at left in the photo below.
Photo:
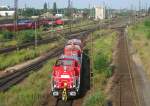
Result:
<svg viewBox="0 0 150 106"><path fill-rule="evenodd" d="M21 19L17 21L17 24L8 23L8 24L0 24L0 30L8 30L8 31L20 31L25 29L35 29L41 26L46 25L63 25L64 21L60 18L54 19L40 19L38 21L28 20L28 19Z"/></svg>

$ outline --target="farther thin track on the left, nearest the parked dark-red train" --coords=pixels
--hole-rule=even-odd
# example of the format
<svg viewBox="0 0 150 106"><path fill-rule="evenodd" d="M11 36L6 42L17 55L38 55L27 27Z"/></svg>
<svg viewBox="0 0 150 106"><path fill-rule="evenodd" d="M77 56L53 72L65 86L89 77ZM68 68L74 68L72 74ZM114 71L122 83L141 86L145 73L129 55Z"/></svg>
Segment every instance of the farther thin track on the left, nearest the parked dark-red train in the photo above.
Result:
<svg viewBox="0 0 150 106"><path fill-rule="evenodd" d="M101 25L100 24L97 24L97 23L91 23L92 27L95 27L95 26L98 26L100 28L107 28L108 25L110 24L115 24L115 21L114 22L111 22L111 23L102 23ZM71 33L70 32L61 32L59 34L62 34L64 37L67 37L68 35L71 35L71 34L76 34L76 33L80 33L80 32L84 32L84 31L88 31L91 29L91 24L86 24L86 25L82 25L82 26L75 26L75 27L72 27L72 28L76 28L76 29L79 29L77 31L72 31ZM89 28L80 28L80 27L84 27L84 26L90 26ZM67 30L69 28L66 28L65 30ZM50 32L46 32L46 33L42 33L43 34L50 34ZM57 34L57 33L53 33L53 34ZM51 43L51 42L54 42L54 41L57 41L58 40L58 36L53 36L53 37L49 37L47 36L46 38L42 39L42 40L37 40L38 42L38 45L42 45L42 44L47 44L47 43ZM21 45L15 45L15 46L10 46L10 47L6 47L6 48L0 48L0 54L4 54L4 53L9 53L9 52L13 52L15 50L21 50L21 49L24 49L24 48L27 48L29 46L33 46L35 44L35 42L28 42L28 43L24 43L24 44L21 44Z"/></svg>

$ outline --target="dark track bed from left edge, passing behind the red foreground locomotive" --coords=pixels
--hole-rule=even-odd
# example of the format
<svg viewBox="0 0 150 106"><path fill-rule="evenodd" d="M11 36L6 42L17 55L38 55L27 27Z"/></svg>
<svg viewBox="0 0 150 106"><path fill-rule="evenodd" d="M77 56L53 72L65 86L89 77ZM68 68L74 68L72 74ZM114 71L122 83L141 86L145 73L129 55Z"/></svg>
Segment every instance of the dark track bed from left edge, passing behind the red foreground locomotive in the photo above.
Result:
<svg viewBox="0 0 150 106"><path fill-rule="evenodd" d="M80 32L78 34L73 34L67 37L70 38L86 38L86 35L95 31L97 27L94 27L88 31ZM62 44L63 45L63 44ZM31 61L29 64L21 67L20 69L10 69L8 72L6 72L4 75L0 76L0 91L7 91L11 86L17 84L21 80L23 80L25 77L27 77L31 71L38 70L40 67L42 67L43 63L47 61L48 59L54 58L56 56L59 56L63 51L63 46L59 46L55 49L50 50L50 52L42 55L38 59L35 59Z"/></svg>

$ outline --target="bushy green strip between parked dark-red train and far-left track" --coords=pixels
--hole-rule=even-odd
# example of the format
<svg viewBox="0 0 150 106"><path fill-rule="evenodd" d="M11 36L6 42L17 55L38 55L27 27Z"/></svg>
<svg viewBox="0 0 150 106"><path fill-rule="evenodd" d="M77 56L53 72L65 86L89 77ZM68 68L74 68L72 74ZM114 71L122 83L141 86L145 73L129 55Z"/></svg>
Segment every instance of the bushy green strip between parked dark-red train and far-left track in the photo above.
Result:
<svg viewBox="0 0 150 106"><path fill-rule="evenodd" d="M42 30L38 29L37 30L37 38L41 39L42 38ZM31 42L35 39L35 30L22 30L18 31L17 33L15 32L9 32L7 30L0 31L0 47L9 47L9 46L14 46L17 44L24 44L26 42Z"/></svg>

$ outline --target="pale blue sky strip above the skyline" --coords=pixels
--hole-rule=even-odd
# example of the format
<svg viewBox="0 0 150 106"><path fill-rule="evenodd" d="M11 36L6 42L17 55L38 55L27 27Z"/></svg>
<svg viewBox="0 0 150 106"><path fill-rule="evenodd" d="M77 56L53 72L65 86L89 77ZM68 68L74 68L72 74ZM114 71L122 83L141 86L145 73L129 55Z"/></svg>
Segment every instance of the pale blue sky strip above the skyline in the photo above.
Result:
<svg viewBox="0 0 150 106"><path fill-rule="evenodd" d="M43 8L44 2L48 2L50 8L53 7L53 2L57 3L58 8L67 7L68 0L18 0L19 1L19 8L24 8L25 4L27 7L33 7L33 8ZM133 5L133 8L138 9L139 7L139 0L72 0L73 1L73 7L76 8L89 8L89 4L91 7L103 5L104 2L107 6L115 9L120 8L131 8L131 5ZM150 7L150 0L141 0L142 1L142 7L145 7L146 4L148 7ZM13 7L14 0L0 0L0 6L9 5Z"/></svg>

